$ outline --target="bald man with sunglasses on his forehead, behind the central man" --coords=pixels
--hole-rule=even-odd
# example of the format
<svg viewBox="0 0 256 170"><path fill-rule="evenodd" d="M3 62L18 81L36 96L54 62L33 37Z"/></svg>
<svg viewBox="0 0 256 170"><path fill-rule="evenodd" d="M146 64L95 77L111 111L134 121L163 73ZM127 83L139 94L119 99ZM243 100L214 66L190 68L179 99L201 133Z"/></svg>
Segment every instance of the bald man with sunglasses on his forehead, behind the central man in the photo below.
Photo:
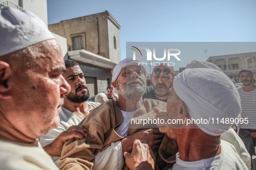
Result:
<svg viewBox="0 0 256 170"><path fill-rule="evenodd" d="M172 88L172 80L175 76L174 68L166 63L155 66L151 81L153 86L146 87L144 98L151 98L167 102L168 92Z"/></svg>

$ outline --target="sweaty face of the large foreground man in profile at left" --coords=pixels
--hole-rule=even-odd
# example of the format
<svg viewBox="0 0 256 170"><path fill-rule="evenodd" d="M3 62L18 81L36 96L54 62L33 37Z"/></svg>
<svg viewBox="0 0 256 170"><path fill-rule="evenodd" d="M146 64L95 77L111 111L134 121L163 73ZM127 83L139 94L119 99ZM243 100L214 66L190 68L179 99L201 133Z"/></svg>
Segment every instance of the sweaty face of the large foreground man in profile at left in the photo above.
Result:
<svg viewBox="0 0 256 170"><path fill-rule="evenodd" d="M62 73L65 63L55 39L43 41L31 48L36 59L19 65L13 76L12 103L7 120L32 139L45 135L59 124L58 113L63 94L70 91ZM43 52L38 52L44 49ZM15 64L13 64L15 66ZM15 66L16 67L16 66Z"/></svg>

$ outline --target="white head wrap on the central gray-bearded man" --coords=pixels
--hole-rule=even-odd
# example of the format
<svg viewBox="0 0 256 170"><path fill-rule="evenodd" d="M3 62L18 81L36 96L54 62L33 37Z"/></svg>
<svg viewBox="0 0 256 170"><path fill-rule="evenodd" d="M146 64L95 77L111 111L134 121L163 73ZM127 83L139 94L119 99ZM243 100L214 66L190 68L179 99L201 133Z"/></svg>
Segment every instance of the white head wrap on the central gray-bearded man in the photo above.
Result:
<svg viewBox="0 0 256 170"><path fill-rule="evenodd" d="M138 60L137 58L135 60L133 60L133 57L130 58L125 58L122 61L120 61L117 66L115 66L114 70L113 70L113 75L112 75L112 82L117 80L117 77L119 76L121 70L126 67L126 66L130 66L130 65L136 65L136 66L140 66L143 69L143 73L147 79L147 72L145 67L143 66L143 64L139 64L141 61ZM117 93L118 91L113 87L113 93Z"/></svg>

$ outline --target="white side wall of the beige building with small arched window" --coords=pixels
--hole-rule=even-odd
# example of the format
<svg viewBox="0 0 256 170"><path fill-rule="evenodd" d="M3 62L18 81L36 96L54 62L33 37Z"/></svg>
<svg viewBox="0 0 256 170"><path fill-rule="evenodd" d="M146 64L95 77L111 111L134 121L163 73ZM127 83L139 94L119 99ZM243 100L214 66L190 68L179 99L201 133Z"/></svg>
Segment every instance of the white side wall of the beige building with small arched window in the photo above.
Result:
<svg viewBox="0 0 256 170"><path fill-rule="evenodd" d="M113 63L119 63L121 61L121 49L120 49L120 27L109 16L107 19L108 28L108 43L109 43L109 58ZM114 49L114 38L116 37L117 49ZM107 88L107 87L106 87Z"/></svg>

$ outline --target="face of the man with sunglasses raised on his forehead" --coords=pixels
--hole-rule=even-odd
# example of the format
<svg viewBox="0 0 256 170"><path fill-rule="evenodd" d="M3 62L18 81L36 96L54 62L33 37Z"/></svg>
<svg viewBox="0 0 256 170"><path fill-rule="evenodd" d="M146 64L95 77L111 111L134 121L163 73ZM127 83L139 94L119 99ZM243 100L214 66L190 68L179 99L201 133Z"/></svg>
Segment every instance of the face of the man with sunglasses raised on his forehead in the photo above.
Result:
<svg viewBox="0 0 256 170"><path fill-rule="evenodd" d="M160 72L160 74L156 74L153 71L151 80L155 94L159 97L163 97L168 94L169 89L172 87L173 75L172 73L170 73L169 75L164 74L163 69L169 69L165 66L156 66L154 69L156 68L160 68L162 69L162 71Z"/></svg>

